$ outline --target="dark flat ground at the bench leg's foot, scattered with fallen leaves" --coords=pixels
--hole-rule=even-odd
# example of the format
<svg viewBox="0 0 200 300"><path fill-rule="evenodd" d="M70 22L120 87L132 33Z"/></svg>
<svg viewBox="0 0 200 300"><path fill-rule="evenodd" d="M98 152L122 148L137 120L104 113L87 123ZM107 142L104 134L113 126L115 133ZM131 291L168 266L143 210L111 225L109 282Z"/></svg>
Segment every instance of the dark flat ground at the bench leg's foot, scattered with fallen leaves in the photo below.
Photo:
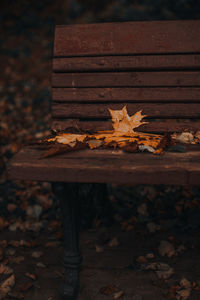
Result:
<svg viewBox="0 0 200 300"><path fill-rule="evenodd" d="M10 243L4 248L4 259L16 277L15 287L5 299L59 299L64 274L61 228L54 224L40 233L4 231L1 244L4 239ZM19 246L13 242L20 240L32 244ZM180 245L184 248L172 257L161 256L158 250L161 240L172 242L175 250ZM120 291L123 292L119 298L122 300L179 299L173 296L184 289L180 284L183 278L191 283L188 299L200 299L199 247L199 231L175 235L171 231L127 232L117 224L84 230L81 234L83 264L79 299L118 299L114 295ZM172 267L172 276L163 279L156 271L145 270L145 266L153 263Z"/></svg>

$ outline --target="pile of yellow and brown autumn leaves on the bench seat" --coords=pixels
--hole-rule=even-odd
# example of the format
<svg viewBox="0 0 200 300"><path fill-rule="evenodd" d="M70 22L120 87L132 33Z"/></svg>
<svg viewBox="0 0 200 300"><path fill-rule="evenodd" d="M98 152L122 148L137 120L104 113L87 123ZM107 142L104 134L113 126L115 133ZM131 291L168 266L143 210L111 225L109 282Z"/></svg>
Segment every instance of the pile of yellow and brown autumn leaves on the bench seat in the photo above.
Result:
<svg viewBox="0 0 200 300"><path fill-rule="evenodd" d="M46 150L41 158L53 156L59 153L70 152L80 149L114 148L126 152L148 151L153 154L163 154L164 151L185 152L183 143L200 143L200 131L196 134L183 132L182 134L164 135L136 132L135 128L148 122L142 122L146 115L142 111L129 116L126 106L121 110L109 109L112 122L112 131L99 131L94 134L60 132L54 136L44 138L37 144ZM178 144L179 143L179 144Z"/></svg>

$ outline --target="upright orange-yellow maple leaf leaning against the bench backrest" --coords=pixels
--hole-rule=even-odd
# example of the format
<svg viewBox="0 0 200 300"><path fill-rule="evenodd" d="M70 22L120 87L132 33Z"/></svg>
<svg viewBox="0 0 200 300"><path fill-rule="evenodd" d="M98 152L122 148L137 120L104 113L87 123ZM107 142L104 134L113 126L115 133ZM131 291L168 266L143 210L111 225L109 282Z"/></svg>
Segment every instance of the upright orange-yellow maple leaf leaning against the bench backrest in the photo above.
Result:
<svg viewBox="0 0 200 300"><path fill-rule="evenodd" d="M131 134L134 132L134 128L139 127L140 125L146 124L148 122L141 122L141 120L146 117L142 115L142 110L136 112L133 116L129 116L126 106L121 110L112 110L109 109L109 112L113 121L114 132L117 133L126 133Z"/></svg>

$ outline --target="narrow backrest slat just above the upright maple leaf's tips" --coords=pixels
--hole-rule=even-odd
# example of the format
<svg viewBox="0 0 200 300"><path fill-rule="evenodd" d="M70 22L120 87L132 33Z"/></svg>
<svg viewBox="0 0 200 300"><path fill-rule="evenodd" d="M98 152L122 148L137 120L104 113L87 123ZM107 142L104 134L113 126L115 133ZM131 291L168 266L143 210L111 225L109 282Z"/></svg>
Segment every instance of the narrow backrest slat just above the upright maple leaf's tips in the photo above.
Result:
<svg viewBox="0 0 200 300"><path fill-rule="evenodd" d="M53 88L57 102L200 102L200 88Z"/></svg>

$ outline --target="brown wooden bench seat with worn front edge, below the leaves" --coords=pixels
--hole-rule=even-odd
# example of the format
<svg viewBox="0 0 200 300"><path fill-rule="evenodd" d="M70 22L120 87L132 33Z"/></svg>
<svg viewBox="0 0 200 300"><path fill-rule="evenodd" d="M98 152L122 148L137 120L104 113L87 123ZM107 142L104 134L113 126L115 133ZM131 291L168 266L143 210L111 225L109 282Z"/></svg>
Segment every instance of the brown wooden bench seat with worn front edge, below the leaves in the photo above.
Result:
<svg viewBox="0 0 200 300"><path fill-rule="evenodd" d="M123 153L85 150L40 159L41 150L23 148L8 166L10 179L120 184L199 184L200 152Z"/></svg>

